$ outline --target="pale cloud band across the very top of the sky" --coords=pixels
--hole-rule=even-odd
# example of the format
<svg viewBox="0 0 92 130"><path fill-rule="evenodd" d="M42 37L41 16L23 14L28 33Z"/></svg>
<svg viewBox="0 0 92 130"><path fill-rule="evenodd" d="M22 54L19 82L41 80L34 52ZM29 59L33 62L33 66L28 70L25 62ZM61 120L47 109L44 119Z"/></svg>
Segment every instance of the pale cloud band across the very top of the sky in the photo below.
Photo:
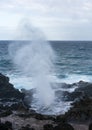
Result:
<svg viewBox="0 0 92 130"><path fill-rule="evenodd" d="M90 19L91 0L3 0L0 9L60 18Z"/></svg>

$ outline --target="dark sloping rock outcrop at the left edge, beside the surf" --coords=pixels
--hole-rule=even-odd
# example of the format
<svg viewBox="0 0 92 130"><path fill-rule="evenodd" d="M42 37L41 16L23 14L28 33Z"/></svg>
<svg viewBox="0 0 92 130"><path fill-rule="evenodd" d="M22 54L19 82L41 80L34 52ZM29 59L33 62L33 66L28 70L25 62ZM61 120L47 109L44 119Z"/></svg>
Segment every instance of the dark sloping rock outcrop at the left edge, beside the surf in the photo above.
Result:
<svg viewBox="0 0 92 130"><path fill-rule="evenodd" d="M9 78L0 73L0 117L12 114L12 110L17 110L23 103L25 94L9 83Z"/></svg>

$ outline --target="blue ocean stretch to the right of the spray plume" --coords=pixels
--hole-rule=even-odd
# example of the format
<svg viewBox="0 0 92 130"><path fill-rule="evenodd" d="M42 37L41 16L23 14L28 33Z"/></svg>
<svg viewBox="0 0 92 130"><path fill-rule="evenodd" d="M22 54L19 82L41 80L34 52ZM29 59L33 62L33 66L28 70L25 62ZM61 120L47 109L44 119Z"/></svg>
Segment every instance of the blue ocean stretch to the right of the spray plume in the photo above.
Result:
<svg viewBox="0 0 92 130"><path fill-rule="evenodd" d="M92 82L92 42L61 41L53 44L58 56L57 77L65 82L79 80ZM65 80L66 79L66 80Z"/></svg>

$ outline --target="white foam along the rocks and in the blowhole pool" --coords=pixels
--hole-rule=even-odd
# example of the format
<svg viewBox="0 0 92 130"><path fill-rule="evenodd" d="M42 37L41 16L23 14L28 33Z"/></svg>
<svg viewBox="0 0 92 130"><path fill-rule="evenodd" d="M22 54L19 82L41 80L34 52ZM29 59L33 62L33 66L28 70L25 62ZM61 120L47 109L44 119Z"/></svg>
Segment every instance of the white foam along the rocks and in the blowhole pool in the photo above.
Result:
<svg viewBox="0 0 92 130"><path fill-rule="evenodd" d="M14 86L18 89L25 88L25 89L32 89L34 88L34 83L32 77L28 76L20 76L20 75L7 75L10 77L10 82L14 84ZM73 86L72 88L63 88L62 83L67 83L67 84L72 84L79 82L80 80L83 80L85 82L91 82L92 77L87 76L87 75L67 75L66 78L64 79L58 79L55 76L48 76L50 79L51 83L57 83L57 86L55 86L55 90L61 90L63 91L68 91L68 92L73 92L78 86ZM44 81L43 81L44 82ZM44 82L45 83L45 82ZM58 87L58 83L61 83L61 87ZM53 90L53 91L55 91ZM45 93L45 89L43 87L43 93ZM45 95L46 96L46 95ZM47 97L47 96L46 96ZM49 97L50 98L50 97ZM36 110L37 112L43 113L43 114L48 114L48 115L58 115L58 114L63 114L66 111L68 111L71 107L71 102L64 102L64 101L57 101L56 99L50 106L45 106L38 100L38 94L34 94L34 100L32 101L31 108ZM44 99L45 100L45 99ZM46 101L47 98L46 98Z"/></svg>

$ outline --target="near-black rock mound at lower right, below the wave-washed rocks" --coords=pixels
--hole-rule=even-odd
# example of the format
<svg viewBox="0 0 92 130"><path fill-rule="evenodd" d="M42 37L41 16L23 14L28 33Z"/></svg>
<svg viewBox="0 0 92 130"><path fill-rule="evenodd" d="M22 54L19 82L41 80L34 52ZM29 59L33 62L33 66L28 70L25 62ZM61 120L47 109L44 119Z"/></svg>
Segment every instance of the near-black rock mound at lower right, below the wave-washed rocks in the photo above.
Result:
<svg viewBox="0 0 92 130"><path fill-rule="evenodd" d="M72 105L73 107L64 115L68 121L92 120L92 98L85 96Z"/></svg>

